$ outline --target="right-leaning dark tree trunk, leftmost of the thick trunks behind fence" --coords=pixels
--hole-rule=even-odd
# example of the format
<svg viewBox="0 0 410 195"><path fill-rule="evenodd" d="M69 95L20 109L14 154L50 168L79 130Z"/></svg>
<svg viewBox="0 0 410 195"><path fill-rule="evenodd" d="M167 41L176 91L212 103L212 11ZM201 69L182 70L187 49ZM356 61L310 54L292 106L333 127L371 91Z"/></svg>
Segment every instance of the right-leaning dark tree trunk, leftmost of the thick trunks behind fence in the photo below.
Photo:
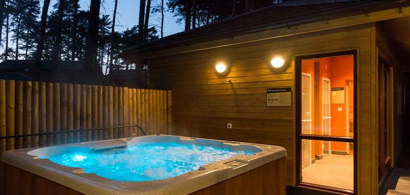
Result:
<svg viewBox="0 0 410 195"><path fill-rule="evenodd" d="M41 60L42 51L44 48L45 25L47 23L47 12L48 12L49 5L50 5L50 0L44 0L42 12L41 12L41 26L40 26L39 41L37 44L37 52L36 52L36 58L35 58L35 72L36 72L36 74L34 74L34 77L36 77L35 80L39 79L40 60Z"/></svg>

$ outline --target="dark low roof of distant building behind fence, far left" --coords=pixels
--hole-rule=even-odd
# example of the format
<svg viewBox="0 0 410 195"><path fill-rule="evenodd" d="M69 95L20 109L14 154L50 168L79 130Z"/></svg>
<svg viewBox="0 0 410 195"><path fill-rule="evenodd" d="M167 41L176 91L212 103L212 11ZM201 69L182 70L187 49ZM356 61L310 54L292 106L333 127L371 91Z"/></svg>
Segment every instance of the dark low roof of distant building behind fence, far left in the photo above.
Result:
<svg viewBox="0 0 410 195"><path fill-rule="evenodd" d="M71 61L60 61L59 62L61 70L70 70ZM22 69L24 67L34 68L34 60L23 60L23 59L7 59L0 63L0 69ZM40 69L42 70L51 70L52 61L43 60L40 62ZM74 70L83 70L82 61L74 62Z"/></svg>

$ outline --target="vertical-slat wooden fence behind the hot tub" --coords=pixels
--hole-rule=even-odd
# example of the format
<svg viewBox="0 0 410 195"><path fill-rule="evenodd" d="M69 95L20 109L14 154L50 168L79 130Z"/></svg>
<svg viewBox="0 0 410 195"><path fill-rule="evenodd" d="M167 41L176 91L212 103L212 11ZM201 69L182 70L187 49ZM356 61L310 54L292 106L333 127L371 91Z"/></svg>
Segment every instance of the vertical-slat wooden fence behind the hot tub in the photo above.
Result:
<svg viewBox="0 0 410 195"><path fill-rule="evenodd" d="M170 134L171 91L0 79L0 136L139 125L147 135ZM130 137L135 127L0 139L0 153Z"/></svg>

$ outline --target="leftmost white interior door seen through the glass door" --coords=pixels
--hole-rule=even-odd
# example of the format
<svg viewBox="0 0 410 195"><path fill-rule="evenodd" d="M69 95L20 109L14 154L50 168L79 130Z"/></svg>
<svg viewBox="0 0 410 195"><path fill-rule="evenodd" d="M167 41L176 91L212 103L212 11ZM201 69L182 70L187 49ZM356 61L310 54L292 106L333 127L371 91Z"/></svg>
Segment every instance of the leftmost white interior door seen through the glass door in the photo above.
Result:
<svg viewBox="0 0 410 195"><path fill-rule="evenodd" d="M312 133L312 76L302 73L302 134ZM311 164L311 140L302 140L302 169Z"/></svg>

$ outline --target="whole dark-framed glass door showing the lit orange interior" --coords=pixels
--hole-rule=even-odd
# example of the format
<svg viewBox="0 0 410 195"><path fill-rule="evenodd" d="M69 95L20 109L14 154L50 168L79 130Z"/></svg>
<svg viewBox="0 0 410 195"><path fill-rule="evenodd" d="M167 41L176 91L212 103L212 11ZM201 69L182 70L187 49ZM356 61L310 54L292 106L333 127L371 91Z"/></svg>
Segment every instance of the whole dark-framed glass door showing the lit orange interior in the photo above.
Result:
<svg viewBox="0 0 410 195"><path fill-rule="evenodd" d="M296 74L300 74L298 183L353 192L355 54L296 60L296 64L300 64L300 72L296 70Z"/></svg>

